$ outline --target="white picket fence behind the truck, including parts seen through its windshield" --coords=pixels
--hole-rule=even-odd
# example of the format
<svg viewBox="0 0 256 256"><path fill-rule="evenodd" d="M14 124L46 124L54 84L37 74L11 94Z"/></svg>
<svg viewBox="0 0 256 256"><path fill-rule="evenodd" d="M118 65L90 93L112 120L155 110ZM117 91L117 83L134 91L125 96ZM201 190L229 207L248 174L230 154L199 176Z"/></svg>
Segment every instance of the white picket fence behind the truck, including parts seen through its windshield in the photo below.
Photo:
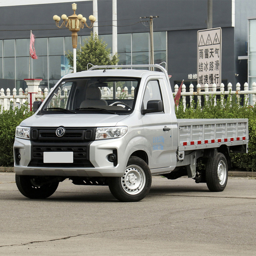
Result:
<svg viewBox="0 0 256 256"><path fill-rule="evenodd" d="M256 83L254 82L252 84L252 89L249 90L248 83L244 83L244 90L241 91L240 87L241 85L239 83L236 84L236 90L232 90L232 84L229 83L227 86L227 91L224 91L224 84L221 84L220 88L217 90L216 84L211 85L211 88L209 88L208 84L204 85L204 89L201 89L200 84L197 85L196 88L194 88L193 84L190 84L189 86L186 86L185 84L182 85L182 92L181 92L181 99L183 103L183 108L185 110L186 108L186 97L189 97L189 102L191 103L193 100L193 97L197 97L197 104L201 105L202 103L202 97L205 95L205 100L209 99L210 95L233 95L236 94L237 98L239 98L241 95L244 95L244 99L246 104L249 104L249 95L252 95L251 105L255 105L256 103ZM174 96L177 94L177 91L179 89L179 86L176 84L174 86ZM65 92L64 92L65 93ZM113 88L102 88L102 98L104 99L113 99ZM11 102L13 102L13 107L20 106L21 104L24 104L25 102L28 102L29 108L31 109L33 102L30 102L30 99L32 98L31 95L28 93L28 88L26 88L25 92L22 88L19 89L18 95L17 90L14 88L11 95L11 90L8 88L6 89L6 94L4 93L4 89L2 88L0 90L0 106L1 106L1 112L3 109L9 109ZM45 97L48 95L48 89L45 88L44 91L41 90L41 88L38 88L38 93L33 94L33 97L35 100L44 100ZM131 88L131 94L128 94L128 88L125 87L123 90L120 87L117 87L116 89L116 99L132 99L134 98L134 87ZM66 97L66 96L61 96ZM216 98L214 98L214 104L216 104Z"/></svg>

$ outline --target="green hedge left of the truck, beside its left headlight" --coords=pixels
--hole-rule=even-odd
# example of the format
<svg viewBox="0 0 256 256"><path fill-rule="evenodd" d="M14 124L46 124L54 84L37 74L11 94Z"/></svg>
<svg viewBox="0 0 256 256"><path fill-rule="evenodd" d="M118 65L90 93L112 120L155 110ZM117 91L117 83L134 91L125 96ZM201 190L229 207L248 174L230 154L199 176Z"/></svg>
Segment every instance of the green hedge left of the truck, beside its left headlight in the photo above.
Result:
<svg viewBox="0 0 256 256"><path fill-rule="evenodd" d="M13 110L12 105L9 110L3 110L0 114L0 166L13 166L13 143L16 126L22 120L31 116L28 111L28 104L24 104Z"/></svg>

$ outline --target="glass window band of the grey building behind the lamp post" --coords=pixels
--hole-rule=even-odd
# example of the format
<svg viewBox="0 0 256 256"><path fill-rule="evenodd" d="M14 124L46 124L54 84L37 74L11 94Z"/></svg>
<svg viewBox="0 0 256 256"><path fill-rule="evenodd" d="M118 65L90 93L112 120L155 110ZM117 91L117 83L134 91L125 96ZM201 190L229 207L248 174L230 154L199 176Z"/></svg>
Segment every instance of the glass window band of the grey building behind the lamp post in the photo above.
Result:
<svg viewBox="0 0 256 256"><path fill-rule="evenodd" d="M78 37L79 45L89 36ZM112 34L99 35L112 48ZM70 73L66 54L73 51L70 37L35 38L38 59L29 57L29 39L0 40L0 88L23 88L24 79L42 79L40 87L52 88L65 74ZM117 35L119 65L149 64L150 33ZM79 47L79 46L78 46ZM154 62L167 62L167 32L154 32ZM2 81L2 82L1 82Z"/></svg>

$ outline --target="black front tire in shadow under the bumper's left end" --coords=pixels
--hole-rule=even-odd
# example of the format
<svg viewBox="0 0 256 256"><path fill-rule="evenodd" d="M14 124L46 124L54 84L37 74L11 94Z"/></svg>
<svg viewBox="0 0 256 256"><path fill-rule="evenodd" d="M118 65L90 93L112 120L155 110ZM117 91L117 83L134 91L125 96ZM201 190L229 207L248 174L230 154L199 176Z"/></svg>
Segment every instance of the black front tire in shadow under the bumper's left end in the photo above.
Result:
<svg viewBox="0 0 256 256"><path fill-rule="evenodd" d="M15 175L16 185L23 196L31 199L44 199L51 196L59 183L53 182L44 185L37 184L37 176Z"/></svg>

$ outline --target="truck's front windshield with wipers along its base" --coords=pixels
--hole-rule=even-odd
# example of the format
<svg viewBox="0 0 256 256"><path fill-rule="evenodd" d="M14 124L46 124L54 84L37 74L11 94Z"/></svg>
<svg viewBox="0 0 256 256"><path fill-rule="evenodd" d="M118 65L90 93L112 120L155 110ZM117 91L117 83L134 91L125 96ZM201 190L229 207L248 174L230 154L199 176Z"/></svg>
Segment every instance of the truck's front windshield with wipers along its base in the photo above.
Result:
<svg viewBox="0 0 256 256"><path fill-rule="evenodd" d="M140 79L86 77L62 80L41 113L128 114L134 109ZM135 97L134 97L135 95Z"/></svg>

